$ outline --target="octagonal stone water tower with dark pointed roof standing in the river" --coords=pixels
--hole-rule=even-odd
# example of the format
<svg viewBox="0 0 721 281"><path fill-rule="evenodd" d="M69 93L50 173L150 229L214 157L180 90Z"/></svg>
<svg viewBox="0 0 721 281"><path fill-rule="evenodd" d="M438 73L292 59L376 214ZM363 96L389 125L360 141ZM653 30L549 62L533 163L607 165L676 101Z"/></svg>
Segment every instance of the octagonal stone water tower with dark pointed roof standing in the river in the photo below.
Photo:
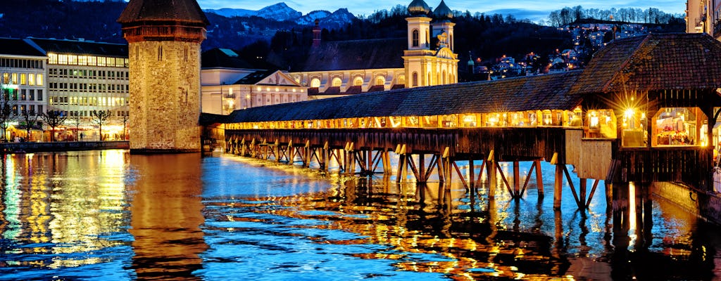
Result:
<svg viewBox="0 0 721 281"><path fill-rule="evenodd" d="M130 58L131 153L200 151L200 42L195 0L131 0L120 14Z"/></svg>

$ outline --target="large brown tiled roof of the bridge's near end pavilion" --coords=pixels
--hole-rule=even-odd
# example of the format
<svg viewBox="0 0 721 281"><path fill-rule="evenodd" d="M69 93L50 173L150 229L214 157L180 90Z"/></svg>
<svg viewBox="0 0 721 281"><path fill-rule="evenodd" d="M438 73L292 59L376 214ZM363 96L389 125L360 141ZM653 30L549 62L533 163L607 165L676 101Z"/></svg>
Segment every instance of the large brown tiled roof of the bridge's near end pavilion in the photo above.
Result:
<svg viewBox="0 0 721 281"><path fill-rule="evenodd" d="M721 88L721 42L707 34L648 34L599 50L572 93Z"/></svg>

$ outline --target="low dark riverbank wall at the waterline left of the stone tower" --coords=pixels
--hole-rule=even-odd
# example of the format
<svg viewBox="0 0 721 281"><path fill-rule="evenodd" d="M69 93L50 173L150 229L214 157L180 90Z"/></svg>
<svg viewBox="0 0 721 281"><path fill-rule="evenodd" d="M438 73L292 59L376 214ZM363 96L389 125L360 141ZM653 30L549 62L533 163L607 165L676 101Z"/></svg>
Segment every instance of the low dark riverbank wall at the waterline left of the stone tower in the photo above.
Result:
<svg viewBox="0 0 721 281"><path fill-rule="evenodd" d="M61 152L94 149L128 149L128 141L115 142L4 142L2 153Z"/></svg>

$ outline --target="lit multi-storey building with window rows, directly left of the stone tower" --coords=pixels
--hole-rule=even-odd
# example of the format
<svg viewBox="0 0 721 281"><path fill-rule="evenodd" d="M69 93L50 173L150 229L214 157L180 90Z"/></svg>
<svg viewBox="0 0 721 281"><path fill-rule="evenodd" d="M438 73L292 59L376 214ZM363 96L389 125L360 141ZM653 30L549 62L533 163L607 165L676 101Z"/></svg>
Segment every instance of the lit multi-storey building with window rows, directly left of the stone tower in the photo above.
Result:
<svg viewBox="0 0 721 281"><path fill-rule="evenodd" d="M67 116L58 139L99 139L92 111L110 111L103 124L105 140L123 139L128 119L128 45L85 40L28 39L48 60L48 110ZM36 79L37 83L37 79ZM37 96L40 97L40 96ZM36 98L37 98L36 97Z"/></svg>

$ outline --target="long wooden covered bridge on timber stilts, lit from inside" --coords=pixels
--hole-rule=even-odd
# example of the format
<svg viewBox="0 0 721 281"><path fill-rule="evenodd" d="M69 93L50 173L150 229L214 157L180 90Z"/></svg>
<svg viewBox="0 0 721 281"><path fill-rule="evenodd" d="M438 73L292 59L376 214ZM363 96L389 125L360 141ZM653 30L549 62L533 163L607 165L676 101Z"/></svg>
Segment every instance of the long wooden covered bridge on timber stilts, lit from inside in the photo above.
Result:
<svg viewBox="0 0 721 281"><path fill-rule="evenodd" d="M566 165L570 188L587 208L598 180L683 183L712 190L712 137L721 106L721 43L705 34L650 34L615 40L585 70L505 80L405 88L341 98L203 114L205 138L226 152L277 161L317 162L346 172L393 172L419 183L459 175L476 188L487 172L520 197L540 162L556 165L559 208ZM430 157L430 161L426 156ZM470 175L458 161L469 163ZM524 183L518 162L531 161ZM513 183L498 162L513 162ZM410 168L410 170L409 170ZM586 198L587 179L596 180ZM610 190L609 190L610 191Z"/></svg>

